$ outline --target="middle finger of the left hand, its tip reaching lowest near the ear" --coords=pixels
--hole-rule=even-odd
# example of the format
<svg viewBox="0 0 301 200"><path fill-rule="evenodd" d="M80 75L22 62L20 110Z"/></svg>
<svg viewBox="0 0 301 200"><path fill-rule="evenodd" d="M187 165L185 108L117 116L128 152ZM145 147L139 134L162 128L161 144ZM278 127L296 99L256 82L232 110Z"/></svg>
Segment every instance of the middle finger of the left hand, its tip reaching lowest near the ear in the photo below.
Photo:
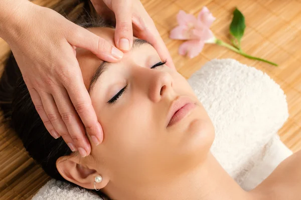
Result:
<svg viewBox="0 0 301 200"><path fill-rule="evenodd" d="M82 157L89 155L91 152L89 139L66 89L58 89L53 93L53 98L58 107L60 116L68 129L68 135L72 138L72 141L77 147L80 155Z"/></svg>

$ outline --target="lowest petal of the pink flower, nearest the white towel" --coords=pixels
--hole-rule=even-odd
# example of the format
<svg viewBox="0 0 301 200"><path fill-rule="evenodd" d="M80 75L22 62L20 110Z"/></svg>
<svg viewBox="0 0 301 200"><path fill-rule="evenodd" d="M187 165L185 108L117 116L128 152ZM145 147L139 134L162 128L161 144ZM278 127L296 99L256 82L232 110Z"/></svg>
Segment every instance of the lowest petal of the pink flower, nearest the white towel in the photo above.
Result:
<svg viewBox="0 0 301 200"><path fill-rule="evenodd" d="M188 55L190 58L197 56L204 47L203 40L188 40L179 47L179 54Z"/></svg>

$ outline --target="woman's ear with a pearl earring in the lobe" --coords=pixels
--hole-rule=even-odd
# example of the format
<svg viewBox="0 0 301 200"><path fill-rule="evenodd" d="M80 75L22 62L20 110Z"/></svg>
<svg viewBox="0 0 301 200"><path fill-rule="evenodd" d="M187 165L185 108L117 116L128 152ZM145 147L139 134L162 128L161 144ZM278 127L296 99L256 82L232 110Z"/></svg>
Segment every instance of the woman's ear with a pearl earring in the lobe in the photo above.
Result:
<svg viewBox="0 0 301 200"><path fill-rule="evenodd" d="M88 157L80 158L80 156L76 155L62 156L57 159L56 167L66 180L87 189L94 189L94 178L100 175L102 181L97 182L95 186L96 189L101 189L108 184L110 179L106 174L102 174L101 171L89 168L85 164ZM79 161L81 161L81 164Z"/></svg>

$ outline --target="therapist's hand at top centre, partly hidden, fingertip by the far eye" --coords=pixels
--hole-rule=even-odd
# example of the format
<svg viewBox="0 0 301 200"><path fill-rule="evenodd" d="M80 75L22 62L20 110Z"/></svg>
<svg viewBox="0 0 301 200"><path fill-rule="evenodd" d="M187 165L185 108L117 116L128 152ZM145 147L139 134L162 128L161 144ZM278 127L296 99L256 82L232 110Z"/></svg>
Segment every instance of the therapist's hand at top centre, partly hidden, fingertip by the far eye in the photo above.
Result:
<svg viewBox="0 0 301 200"><path fill-rule="evenodd" d="M167 65L175 68L153 19L148 15L140 0L91 0L91 2L104 18L115 15L115 44L119 49L128 51L132 46L134 34L153 44L161 59L167 59Z"/></svg>

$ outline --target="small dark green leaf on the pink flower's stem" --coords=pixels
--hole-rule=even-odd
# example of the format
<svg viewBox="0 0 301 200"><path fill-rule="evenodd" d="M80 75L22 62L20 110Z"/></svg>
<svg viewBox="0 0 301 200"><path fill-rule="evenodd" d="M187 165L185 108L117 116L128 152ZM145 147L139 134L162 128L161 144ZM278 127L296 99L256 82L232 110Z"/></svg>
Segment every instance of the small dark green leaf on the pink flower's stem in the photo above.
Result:
<svg viewBox="0 0 301 200"><path fill-rule="evenodd" d="M246 24L245 24L244 16L236 7L233 12L232 22L230 24L230 33L238 40L239 48L240 48L240 39L243 36L245 27Z"/></svg>

